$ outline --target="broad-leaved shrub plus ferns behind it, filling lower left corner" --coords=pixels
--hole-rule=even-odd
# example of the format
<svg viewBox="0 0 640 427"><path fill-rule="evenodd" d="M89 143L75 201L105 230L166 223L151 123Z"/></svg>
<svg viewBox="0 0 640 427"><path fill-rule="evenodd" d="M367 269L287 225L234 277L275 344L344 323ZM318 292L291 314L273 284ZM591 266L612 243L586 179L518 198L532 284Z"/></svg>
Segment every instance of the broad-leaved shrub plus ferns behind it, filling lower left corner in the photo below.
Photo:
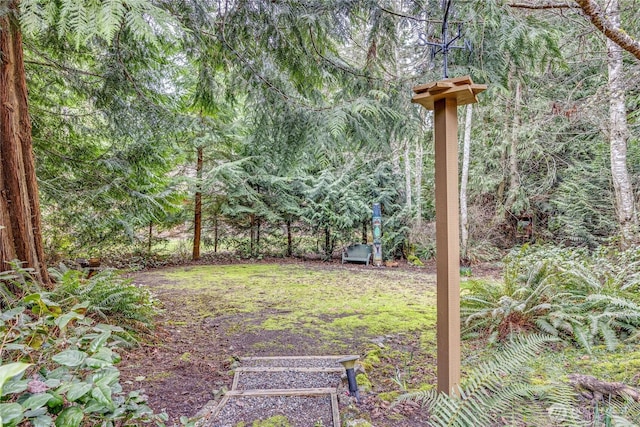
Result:
<svg viewBox="0 0 640 427"><path fill-rule="evenodd" d="M149 294L110 274L58 279L46 292L17 267L0 278L0 425L165 425L116 367L138 331L130 321L153 314Z"/></svg>

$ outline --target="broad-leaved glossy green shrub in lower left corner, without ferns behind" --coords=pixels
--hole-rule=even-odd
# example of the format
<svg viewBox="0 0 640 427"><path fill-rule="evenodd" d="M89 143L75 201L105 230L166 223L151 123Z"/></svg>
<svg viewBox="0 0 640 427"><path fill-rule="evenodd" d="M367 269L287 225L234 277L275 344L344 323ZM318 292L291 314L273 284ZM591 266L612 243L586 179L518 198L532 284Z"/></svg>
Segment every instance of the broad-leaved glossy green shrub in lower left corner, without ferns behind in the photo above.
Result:
<svg viewBox="0 0 640 427"><path fill-rule="evenodd" d="M0 425L164 425L140 391L124 392L115 366L123 330L88 317L90 306L64 309L41 292L0 313Z"/></svg>

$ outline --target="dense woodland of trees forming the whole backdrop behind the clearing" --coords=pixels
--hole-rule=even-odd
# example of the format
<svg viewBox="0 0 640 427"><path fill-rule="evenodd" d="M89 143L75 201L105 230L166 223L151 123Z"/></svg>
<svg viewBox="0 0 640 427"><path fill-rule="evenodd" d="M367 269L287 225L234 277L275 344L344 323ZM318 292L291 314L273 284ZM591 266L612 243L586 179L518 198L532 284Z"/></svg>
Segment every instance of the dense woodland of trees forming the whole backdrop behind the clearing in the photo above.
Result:
<svg viewBox="0 0 640 427"><path fill-rule="evenodd" d="M366 240L374 202L385 258L432 256L431 116L410 99L442 78L418 41L448 3L470 47L449 74L489 85L460 109L465 261L637 242L636 1L13 0L2 268L47 281L45 263L175 229L194 258L328 255Z"/></svg>

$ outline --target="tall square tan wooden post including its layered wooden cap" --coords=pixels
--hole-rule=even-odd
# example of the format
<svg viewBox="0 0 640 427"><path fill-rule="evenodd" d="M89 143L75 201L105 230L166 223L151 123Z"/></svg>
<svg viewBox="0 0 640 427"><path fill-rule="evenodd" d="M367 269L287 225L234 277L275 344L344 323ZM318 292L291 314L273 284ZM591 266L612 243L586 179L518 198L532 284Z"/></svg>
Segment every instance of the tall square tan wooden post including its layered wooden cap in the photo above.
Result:
<svg viewBox="0 0 640 427"><path fill-rule="evenodd" d="M468 76L416 86L412 102L434 111L436 179L438 391L460 384L460 221L458 105L477 102L487 88Z"/></svg>

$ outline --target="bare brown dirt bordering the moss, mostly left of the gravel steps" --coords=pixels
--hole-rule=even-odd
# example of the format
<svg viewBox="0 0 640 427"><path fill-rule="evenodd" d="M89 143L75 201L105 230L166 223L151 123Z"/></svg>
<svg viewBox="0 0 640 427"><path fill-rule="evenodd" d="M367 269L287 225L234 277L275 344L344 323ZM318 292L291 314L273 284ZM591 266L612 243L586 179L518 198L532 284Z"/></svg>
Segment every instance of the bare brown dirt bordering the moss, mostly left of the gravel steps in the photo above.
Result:
<svg viewBox="0 0 640 427"><path fill-rule="evenodd" d="M273 261L261 261L273 262ZM278 259L278 263L283 260ZM284 261L296 262L299 261ZM309 262L313 269L363 269L372 268L363 265L341 266L338 262ZM403 274L429 277L434 279L435 264L415 268L401 264ZM474 267L474 276L500 275L495 266ZM153 335L148 337L139 348L123 355L120 364L123 383L131 389L144 389L149 404L155 411L165 411L170 423L177 424L181 416L193 417L207 403L219 399L224 390L231 389L232 370L239 356L255 355L256 346L269 343L272 356L321 355L327 354L321 342L309 334L283 331L255 331L242 325L259 324L270 315L268 310L258 314L229 313L222 316L194 320L185 301L198 299L197 290L168 289L158 282L159 275L153 271L139 272L135 282L148 286L159 299L163 313L157 320ZM349 338L347 338L349 339ZM367 337L353 337L349 343L353 348L362 347ZM393 341L393 340L391 340ZM398 345L407 347L416 345L406 340ZM371 344L369 342L369 344ZM435 363L435 361L434 361ZM423 368L424 369L424 368ZM421 374L421 372L415 372ZM433 372L425 373L433 375ZM376 427L410 427L424 425L420 419L421 409L416 404L403 404L390 407L375 393L364 393L357 412L363 413ZM358 414L353 415L359 417Z"/></svg>

